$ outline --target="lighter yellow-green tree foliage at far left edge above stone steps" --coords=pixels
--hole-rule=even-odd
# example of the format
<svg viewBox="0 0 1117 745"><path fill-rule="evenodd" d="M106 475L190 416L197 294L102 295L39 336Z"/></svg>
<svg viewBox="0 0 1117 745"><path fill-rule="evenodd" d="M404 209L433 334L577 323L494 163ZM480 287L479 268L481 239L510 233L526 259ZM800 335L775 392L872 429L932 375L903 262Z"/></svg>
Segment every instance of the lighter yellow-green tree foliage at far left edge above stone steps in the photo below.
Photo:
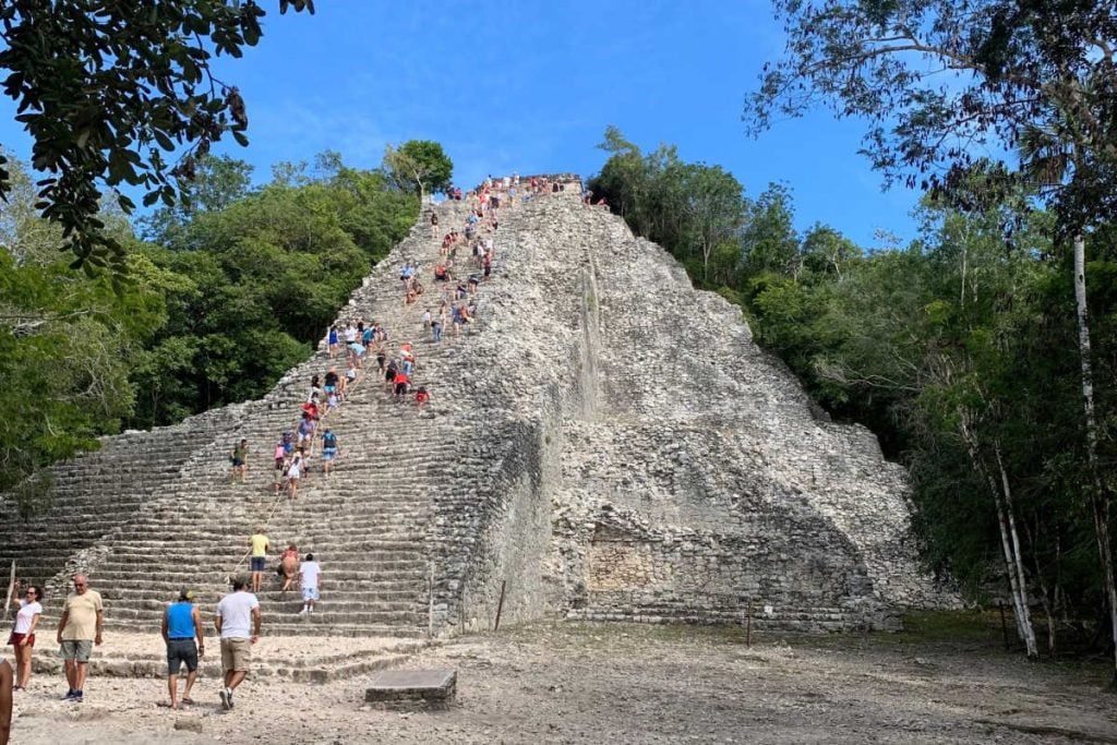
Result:
<svg viewBox="0 0 1117 745"><path fill-rule="evenodd" d="M118 431L132 416L131 363L166 315L146 281L159 274L155 267L133 256L127 268L133 280L114 287L107 277L75 274L58 258L17 261L10 248L0 250L0 379L7 388L0 489L96 448L97 434ZM44 490L20 491L21 510Z"/></svg>

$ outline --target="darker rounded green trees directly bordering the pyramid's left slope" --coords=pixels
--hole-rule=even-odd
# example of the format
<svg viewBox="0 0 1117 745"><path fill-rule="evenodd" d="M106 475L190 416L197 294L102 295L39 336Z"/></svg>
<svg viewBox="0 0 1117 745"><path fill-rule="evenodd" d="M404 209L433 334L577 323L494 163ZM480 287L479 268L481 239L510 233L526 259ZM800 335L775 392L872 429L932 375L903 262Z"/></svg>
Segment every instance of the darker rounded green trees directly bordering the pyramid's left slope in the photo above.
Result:
<svg viewBox="0 0 1117 745"><path fill-rule="evenodd" d="M281 166L281 179L221 209L152 221L169 226L163 246L140 250L180 281L137 370L136 426L261 395L414 223L416 198L383 174L323 160L333 164L314 178Z"/></svg>

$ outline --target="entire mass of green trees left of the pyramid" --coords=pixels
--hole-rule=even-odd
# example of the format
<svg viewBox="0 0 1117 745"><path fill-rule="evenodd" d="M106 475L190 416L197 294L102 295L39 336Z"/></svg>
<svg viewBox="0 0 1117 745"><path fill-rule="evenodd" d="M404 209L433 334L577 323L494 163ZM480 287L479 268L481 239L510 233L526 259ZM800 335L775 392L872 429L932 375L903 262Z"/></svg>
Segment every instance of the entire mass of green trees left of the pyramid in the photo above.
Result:
<svg viewBox="0 0 1117 745"><path fill-rule="evenodd" d="M337 308L418 217L379 171L321 159L314 178L247 189L247 169L204 159L190 202L131 237L126 274L75 273L61 230L34 208L12 161L0 211L0 490L27 515L49 500L28 477L124 427L151 427L257 398L325 333ZM285 172L303 173L290 166Z"/></svg>

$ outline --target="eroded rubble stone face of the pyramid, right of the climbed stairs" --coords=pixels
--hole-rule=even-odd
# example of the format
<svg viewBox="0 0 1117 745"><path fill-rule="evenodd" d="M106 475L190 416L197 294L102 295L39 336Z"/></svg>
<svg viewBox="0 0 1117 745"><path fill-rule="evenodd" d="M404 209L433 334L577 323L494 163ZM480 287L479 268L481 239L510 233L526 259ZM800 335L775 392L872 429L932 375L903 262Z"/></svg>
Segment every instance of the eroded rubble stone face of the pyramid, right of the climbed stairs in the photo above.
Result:
<svg viewBox="0 0 1117 745"><path fill-rule="evenodd" d="M525 599L516 619L733 621L755 606L761 627L895 628L903 608L955 602L918 565L903 470L862 428L819 418L739 309L603 210L564 197L517 210L489 288L487 380L500 416L537 432L515 448L542 443L531 461L547 465L510 478L481 520L481 569L464 581L476 625L515 576L498 558L514 542L531 566L506 580ZM538 534L513 525L543 498L537 576Z"/></svg>

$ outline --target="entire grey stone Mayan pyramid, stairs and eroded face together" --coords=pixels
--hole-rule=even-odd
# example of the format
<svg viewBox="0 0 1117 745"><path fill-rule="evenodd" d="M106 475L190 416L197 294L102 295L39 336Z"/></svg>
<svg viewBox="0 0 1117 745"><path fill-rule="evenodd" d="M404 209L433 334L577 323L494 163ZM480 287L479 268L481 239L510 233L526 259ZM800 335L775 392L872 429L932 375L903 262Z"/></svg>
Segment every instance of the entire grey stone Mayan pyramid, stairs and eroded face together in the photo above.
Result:
<svg viewBox="0 0 1117 745"><path fill-rule="evenodd" d="M48 625L80 571L108 629L152 632L183 586L208 620L259 525L326 572L313 617L268 576L268 633L446 636L490 628L498 604L502 624L751 613L766 629L887 629L949 602L918 565L905 474L876 438L819 417L738 308L577 193L502 209L476 322L439 343L420 321L438 305L429 210L448 229L468 206L426 208L338 319L413 342L431 401L361 380L330 420L328 480L271 496L271 449L327 369L323 347L262 400L56 465L52 506L29 523L0 502L0 565L47 583ZM404 261L430 293L411 306ZM240 438L248 484L230 485Z"/></svg>

